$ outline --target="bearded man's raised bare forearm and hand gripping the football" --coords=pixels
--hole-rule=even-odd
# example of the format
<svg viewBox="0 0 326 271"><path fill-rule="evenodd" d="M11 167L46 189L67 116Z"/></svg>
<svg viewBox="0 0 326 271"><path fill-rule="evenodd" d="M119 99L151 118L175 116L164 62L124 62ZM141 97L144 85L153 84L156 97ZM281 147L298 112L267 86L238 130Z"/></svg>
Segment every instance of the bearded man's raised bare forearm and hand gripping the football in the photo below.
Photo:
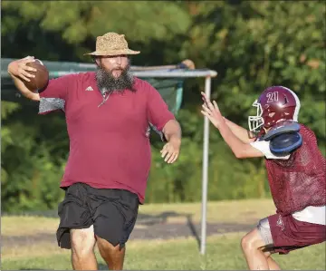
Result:
<svg viewBox="0 0 326 271"><path fill-rule="evenodd" d="M24 81L30 82L29 78L34 77L34 74L29 72L36 72L32 67L27 66L27 63L34 62L33 56L28 56L23 59L15 60L8 65L8 73L14 81L14 85L24 97L32 101L40 101L39 93L30 91L24 84Z"/></svg>

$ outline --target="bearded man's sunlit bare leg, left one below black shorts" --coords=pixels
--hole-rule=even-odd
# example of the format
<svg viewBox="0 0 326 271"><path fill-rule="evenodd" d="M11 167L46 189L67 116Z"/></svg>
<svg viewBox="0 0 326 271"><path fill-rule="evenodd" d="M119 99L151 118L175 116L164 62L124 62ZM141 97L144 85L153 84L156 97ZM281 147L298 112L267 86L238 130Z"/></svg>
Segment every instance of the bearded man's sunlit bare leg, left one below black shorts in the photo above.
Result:
<svg viewBox="0 0 326 271"><path fill-rule="evenodd" d="M94 254L96 239L93 226L71 229L71 237L73 270L97 270L98 265Z"/></svg>

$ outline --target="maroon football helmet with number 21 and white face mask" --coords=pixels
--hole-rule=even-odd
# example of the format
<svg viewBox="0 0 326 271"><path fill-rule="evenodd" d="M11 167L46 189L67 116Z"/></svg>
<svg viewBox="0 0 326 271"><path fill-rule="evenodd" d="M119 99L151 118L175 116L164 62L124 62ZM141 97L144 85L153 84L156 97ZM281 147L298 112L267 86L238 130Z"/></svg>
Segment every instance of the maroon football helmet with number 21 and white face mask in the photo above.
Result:
<svg viewBox="0 0 326 271"><path fill-rule="evenodd" d="M300 101L292 90L283 86L272 86L264 90L253 106L256 116L249 116L249 130L259 132L268 129L279 121L298 121Z"/></svg>

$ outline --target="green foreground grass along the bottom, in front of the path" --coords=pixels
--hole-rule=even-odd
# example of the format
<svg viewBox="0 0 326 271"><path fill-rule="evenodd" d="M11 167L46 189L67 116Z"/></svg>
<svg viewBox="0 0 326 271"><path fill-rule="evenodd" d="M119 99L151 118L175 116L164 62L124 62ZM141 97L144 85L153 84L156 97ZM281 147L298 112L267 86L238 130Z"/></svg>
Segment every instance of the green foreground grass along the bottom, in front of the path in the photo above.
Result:
<svg viewBox="0 0 326 271"><path fill-rule="evenodd" d="M245 269L245 259L239 247L239 240L243 234L209 237L206 256L198 254L197 243L192 238L168 241L132 241L129 242L127 248L124 268L129 270ZM71 270L69 251L57 251L59 248L40 248L38 253L35 253L33 249L30 250L30 256L2 257L2 269ZM100 257L98 258L100 259ZM274 259L283 269L325 270L325 247L324 244L306 247L293 251L287 256L274 256ZM100 268L106 268L101 259Z"/></svg>

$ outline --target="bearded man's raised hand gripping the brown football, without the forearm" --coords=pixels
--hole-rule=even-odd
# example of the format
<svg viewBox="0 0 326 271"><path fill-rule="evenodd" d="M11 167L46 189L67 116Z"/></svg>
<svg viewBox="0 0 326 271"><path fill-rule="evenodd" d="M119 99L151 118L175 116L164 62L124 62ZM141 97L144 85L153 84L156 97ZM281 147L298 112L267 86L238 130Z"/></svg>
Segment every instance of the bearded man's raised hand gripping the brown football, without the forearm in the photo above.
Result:
<svg viewBox="0 0 326 271"><path fill-rule="evenodd" d="M29 78L35 77L35 75L28 72L36 72L36 69L27 66L27 63L32 63L34 61L34 56L27 56L23 59L9 63L8 73L14 75L15 77L24 79L27 82L30 82L31 80Z"/></svg>

